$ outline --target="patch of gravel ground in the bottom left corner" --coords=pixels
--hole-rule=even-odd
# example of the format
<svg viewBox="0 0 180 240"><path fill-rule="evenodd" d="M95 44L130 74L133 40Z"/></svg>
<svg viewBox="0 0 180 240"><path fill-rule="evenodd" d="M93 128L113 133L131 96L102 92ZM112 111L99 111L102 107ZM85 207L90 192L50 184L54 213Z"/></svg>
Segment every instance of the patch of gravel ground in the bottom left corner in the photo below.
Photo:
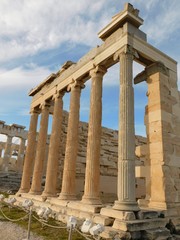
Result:
<svg viewBox="0 0 180 240"><path fill-rule="evenodd" d="M23 240L27 238L27 230L15 223L0 221L0 240ZM43 240L34 234L30 234L31 240Z"/></svg>

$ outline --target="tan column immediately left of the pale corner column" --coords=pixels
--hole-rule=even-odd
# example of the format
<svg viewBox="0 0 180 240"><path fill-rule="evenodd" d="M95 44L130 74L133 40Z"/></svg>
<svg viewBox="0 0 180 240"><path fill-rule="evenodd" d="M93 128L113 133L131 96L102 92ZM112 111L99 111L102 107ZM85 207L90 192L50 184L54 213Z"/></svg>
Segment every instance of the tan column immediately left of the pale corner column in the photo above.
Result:
<svg viewBox="0 0 180 240"><path fill-rule="evenodd" d="M92 79L90 98L90 117L88 128L85 188L83 203L101 204L100 184L100 149L102 120L102 81L106 69L97 66L90 71Z"/></svg>

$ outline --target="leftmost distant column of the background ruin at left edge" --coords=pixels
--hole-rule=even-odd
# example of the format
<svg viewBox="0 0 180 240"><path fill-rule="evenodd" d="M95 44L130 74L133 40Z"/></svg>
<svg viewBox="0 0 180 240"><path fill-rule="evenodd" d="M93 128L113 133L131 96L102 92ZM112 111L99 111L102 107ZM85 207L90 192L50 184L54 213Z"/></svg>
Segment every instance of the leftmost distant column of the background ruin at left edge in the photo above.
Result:
<svg viewBox="0 0 180 240"><path fill-rule="evenodd" d="M12 146L12 136L7 136L7 141L4 149L4 158L3 158L3 165L2 170L8 172L9 161L11 159L11 146Z"/></svg>

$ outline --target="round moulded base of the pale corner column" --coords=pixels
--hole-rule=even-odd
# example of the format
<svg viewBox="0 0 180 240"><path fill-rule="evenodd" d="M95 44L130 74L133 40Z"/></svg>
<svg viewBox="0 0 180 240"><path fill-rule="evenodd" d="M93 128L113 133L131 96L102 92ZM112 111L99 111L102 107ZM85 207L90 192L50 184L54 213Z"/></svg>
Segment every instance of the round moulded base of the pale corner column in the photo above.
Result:
<svg viewBox="0 0 180 240"><path fill-rule="evenodd" d="M137 212L140 210L137 202L120 202L120 201L115 201L113 209L133 212Z"/></svg>

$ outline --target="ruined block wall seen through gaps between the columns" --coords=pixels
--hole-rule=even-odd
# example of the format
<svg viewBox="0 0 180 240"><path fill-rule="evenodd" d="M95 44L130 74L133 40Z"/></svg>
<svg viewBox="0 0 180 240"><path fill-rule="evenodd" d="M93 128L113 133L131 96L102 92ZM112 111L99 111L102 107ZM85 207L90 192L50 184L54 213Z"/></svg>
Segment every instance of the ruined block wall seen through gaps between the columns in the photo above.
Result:
<svg viewBox="0 0 180 240"><path fill-rule="evenodd" d="M68 113L64 112L62 150L59 157L59 188L61 187L63 161L65 156L65 144L67 134ZM88 123L79 123L79 149L76 165L76 186L79 197L83 195L84 178L86 167L86 148L87 148ZM102 127L101 135L101 160L100 160L100 191L106 202L116 199L117 192L117 161L118 161L118 131ZM145 181L146 174L143 169L146 168L146 138L136 136L136 197L144 198L146 192Z"/></svg>

